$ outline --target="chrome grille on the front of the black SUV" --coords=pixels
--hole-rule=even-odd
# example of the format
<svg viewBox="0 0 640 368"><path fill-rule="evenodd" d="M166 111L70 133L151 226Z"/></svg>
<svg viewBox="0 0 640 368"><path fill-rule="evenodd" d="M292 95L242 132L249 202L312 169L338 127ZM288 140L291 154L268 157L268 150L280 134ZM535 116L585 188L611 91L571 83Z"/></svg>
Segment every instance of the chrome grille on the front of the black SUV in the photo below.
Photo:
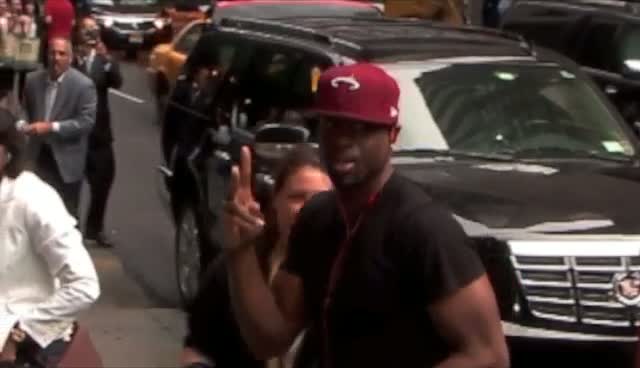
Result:
<svg viewBox="0 0 640 368"><path fill-rule="evenodd" d="M614 277L639 271L637 256L523 256L511 261L537 318L591 325L640 326L640 308L620 303Z"/></svg>

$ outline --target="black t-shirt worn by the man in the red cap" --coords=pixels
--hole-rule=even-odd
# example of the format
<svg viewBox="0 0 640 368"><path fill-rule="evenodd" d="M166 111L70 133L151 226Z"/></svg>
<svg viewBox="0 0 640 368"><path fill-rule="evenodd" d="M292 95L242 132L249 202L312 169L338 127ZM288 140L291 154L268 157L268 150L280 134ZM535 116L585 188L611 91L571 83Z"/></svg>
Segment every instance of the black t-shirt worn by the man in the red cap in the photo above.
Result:
<svg viewBox="0 0 640 368"><path fill-rule="evenodd" d="M312 198L292 229L284 268L302 278L317 330L345 237L334 192ZM352 239L328 313L333 367L430 367L446 358L450 349L426 307L484 273L450 212L394 174Z"/></svg>

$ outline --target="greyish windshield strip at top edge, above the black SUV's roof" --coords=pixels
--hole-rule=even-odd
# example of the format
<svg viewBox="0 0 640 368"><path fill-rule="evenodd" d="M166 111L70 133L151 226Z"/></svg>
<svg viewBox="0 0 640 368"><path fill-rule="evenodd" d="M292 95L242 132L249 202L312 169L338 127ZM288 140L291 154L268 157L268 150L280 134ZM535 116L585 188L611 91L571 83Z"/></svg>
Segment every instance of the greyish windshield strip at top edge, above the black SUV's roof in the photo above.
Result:
<svg viewBox="0 0 640 368"><path fill-rule="evenodd" d="M294 17L353 17L353 16L381 16L375 7L346 6L332 4L252 4L218 8L215 20L224 17L238 18L294 18Z"/></svg>

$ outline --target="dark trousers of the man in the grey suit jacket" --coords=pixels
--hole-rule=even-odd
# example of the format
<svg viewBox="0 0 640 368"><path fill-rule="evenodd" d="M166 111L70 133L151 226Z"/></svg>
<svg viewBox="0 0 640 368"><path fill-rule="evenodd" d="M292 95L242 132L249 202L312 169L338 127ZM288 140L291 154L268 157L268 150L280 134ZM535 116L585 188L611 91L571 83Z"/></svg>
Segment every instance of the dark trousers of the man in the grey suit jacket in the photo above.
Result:
<svg viewBox="0 0 640 368"><path fill-rule="evenodd" d="M67 207L67 211L77 219L82 181L67 183L62 179L60 170L58 169L58 163L53 157L51 148L47 144L42 145L40 154L38 155L36 174L58 192L60 197L62 197L65 207Z"/></svg>

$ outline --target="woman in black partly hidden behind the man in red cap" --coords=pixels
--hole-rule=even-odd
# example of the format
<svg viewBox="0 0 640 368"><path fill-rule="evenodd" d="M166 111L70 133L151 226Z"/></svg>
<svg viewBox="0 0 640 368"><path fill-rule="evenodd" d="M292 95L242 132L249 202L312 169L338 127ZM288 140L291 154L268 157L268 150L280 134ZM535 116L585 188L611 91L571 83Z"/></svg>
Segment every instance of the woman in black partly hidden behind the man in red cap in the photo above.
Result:
<svg viewBox="0 0 640 368"><path fill-rule="evenodd" d="M273 278L287 254L289 230L298 211L314 194L330 188L331 181L311 149L295 149L281 162L272 199L264 211L265 231L254 245L266 279ZM225 259L218 258L188 308L182 364L189 368L263 368L265 363L253 357L240 334L230 305Z"/></svg>

